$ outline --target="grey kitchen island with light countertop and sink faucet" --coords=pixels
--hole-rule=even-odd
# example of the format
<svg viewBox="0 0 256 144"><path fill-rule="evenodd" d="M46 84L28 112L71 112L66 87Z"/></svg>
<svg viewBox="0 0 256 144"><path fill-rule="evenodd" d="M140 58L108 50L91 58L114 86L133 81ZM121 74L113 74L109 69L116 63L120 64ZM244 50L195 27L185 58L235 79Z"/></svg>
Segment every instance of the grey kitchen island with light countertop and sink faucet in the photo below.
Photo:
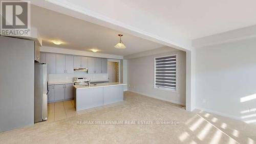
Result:
<svg viewBox="0 0 256 144"><path fill-rule="evenodd" d="M76 111L123 101L123 83L101 83L89 86L74 85Z"/></svg>

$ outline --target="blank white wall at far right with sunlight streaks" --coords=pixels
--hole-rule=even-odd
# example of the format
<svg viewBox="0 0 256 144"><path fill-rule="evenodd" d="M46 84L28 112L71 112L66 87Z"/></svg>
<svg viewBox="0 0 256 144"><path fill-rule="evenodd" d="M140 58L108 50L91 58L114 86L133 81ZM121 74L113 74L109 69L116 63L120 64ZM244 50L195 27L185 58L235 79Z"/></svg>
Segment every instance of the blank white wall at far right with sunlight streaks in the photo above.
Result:
<svg viewBox="0 0 256 144"><path fill-rule="evenodd" d="M233 118L255 114L242 111L256 108L256 39L249 39L196 50L196 105ZM205 103L203 102L205 100ZM256 117L244 118L243 121Z"/></svg>

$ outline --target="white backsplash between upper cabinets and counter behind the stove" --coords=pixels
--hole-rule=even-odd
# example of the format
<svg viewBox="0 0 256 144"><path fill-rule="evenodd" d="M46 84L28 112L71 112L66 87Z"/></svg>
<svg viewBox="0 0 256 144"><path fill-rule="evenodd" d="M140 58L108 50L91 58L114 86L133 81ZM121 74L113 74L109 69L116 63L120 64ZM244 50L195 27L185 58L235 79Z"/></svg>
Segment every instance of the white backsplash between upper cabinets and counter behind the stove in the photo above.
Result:
<svg viewBox="0 0 256 144"><path fill-rule="evenodd" d="M108 81L108 74L86 74L84 71L74 71L74 74L49 74L48 82L73 82L74 77L87 77L91 81Z"/></svg>

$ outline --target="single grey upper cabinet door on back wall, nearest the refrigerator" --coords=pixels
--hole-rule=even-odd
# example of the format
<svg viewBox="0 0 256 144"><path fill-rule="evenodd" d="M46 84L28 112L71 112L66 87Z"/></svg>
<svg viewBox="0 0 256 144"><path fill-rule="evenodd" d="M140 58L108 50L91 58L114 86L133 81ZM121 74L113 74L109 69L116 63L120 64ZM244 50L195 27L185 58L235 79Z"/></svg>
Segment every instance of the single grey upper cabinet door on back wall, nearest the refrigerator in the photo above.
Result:
<svg viewBox="0 0 256 144"><path fill-rule="evenodd" d="M46 54L47 73L56 74L56 55Z"/></svg>

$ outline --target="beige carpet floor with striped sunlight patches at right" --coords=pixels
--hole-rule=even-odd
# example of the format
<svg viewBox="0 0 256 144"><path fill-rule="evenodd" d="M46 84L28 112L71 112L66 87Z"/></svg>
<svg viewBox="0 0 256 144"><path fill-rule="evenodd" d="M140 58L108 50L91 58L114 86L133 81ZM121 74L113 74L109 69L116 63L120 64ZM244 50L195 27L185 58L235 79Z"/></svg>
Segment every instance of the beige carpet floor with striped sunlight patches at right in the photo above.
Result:
<svg viewBox="0 0 256 144"><path fill-rule="evenodd" d="M110 124L114 122L116 125ZM175 125L176 122L179 124ZM121 103L0 133L0 143L231 144L255 141L256 126L253 124L204 111L188 112L182 106L132 92L125 92Z"/></svg>

